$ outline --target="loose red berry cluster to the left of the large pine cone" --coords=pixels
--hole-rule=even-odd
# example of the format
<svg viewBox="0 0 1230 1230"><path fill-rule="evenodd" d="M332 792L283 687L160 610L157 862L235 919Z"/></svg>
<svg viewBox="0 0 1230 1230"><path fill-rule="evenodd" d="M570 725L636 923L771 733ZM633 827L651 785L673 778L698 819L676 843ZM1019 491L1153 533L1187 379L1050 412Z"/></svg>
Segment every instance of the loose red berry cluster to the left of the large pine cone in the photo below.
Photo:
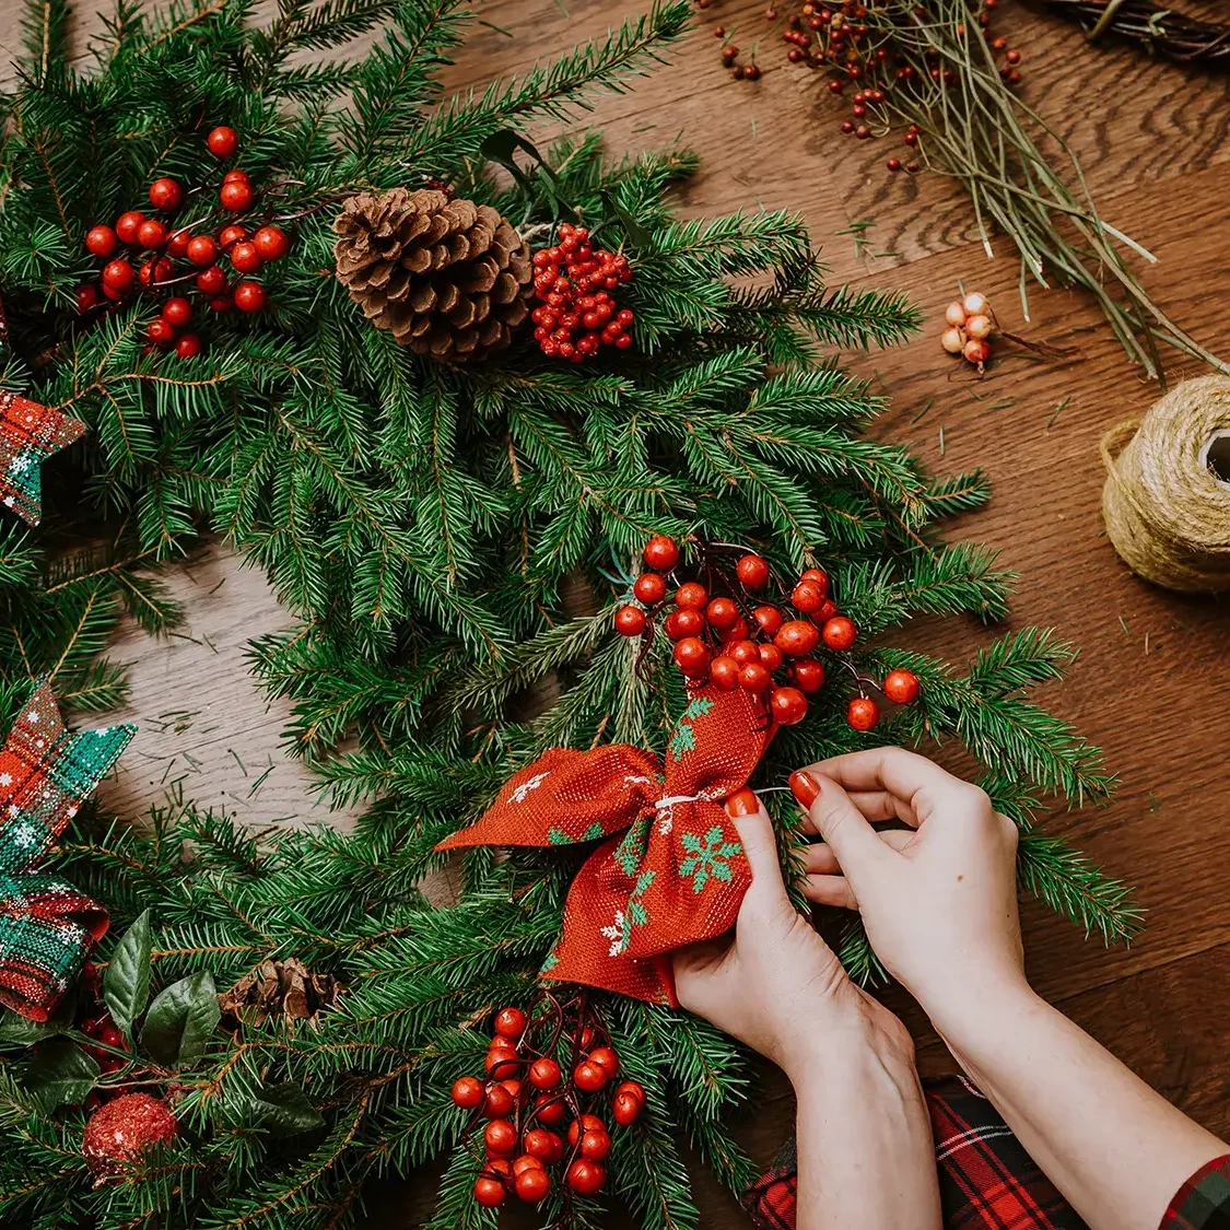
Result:
<svg viewBox="0 0 1230 1230"><path fill-rule="evenodd" d="M239 149L232 128L215 128L205 143L218 159L229 159ZM193 304L187 295L202 296L214 312L228 312L232 308L248 314L261 311L267 298L264 287L251 274L285 256L290 246L285 231L266 224L248 234L237 221L216 226L216 215L213 220L204 218L173 225L170 216L187 197L204 191L200 187L184 193L176 180L155 180L149 188L149 200L165 218L148 218L140 210L129 209L116 219L114 226L92 226L85 236L86 250L107 263L97 285L77 287L77 311L91 311L107 300L118 304L138 294L151 295L161 300L161 308L145 326L145 337L155 347L173 346L183 359L199 354L202 344L200 336L188 328ZM232 218L245 214L255 200L247 172L237 167L226 171L218 187L218 207L223 214ZM219 263L223 256L235 280ZM138 260L140 264L134 268Z"/></svg>

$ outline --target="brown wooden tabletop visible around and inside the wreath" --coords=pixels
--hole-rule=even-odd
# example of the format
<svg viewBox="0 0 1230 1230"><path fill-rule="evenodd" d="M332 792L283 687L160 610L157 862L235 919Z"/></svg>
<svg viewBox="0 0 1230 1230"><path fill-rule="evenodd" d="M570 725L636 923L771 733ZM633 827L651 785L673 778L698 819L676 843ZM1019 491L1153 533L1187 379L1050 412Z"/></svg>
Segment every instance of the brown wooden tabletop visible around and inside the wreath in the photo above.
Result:
<svg viewBox="0 0 1230 1230"><path fill-rule="evenodd" d="M15 7L0 0L6 17ZM1058 18L1004 7L1001 28L1023 53L1026 97L1079 153L1103 215L1157 256L1145 284L1199 341L1230 357L1230 77L1091 48ZM524 70L638 9L635 0L488 0L449 85L481 87ZM1167 1097L1230 1135L1228 608L1138 581L1105 540L1100 513L1098 437L1143 413L1157 389L1128 365L1077 294L1031 292L1026 323L1010 245L1000 240L988 261L958 189L937 175L889 173L886 159L903 151L893 141L840 135L823 77L786 64L763 11L754 0L715 0L697 11L670 66L629 93L599 97L578 125L603 125L616 153L694 148L704 161L681 193L684 213L797 209L834 280L907 290L925 310L924 333L909 346L854 359L893 399L877 430L909 444L936 471L982 466L993 477L991 507L957 523L953 536L998 546L1020 572L1009 629L1053 626L1081 647L1069 680L1044 699L1105 748L1122 777L1108 807L1057 814L1052 827L1130 881L1148 910L1133 947L1106 952L1027 904L1031 974ZM759 82L722 71L717 25L744 49L763 38ZM15 26L0 23L5 39L16 39ZM863 221L872 224L867 242L841 234ZM1071 346L1077 357L1012 358L973 383L937 344L958 285L986 294L1012 332ZM1199 368L1175 355L1170 374ZM214 552L184 569L177 587L188 606L184 635L155 642L133 631L114 651L132 663L124 716L141 732L109 802L144 807L178 788L248 823L326 814L308 775L280 750L287 711L266 706L244 667L251 636L289 622L263 578ZM916 643L958 661L990 635L952 621L911 630ZM916 1010L889 998L915 1030L924 1070L952 1070ZM770 1081L748 1117L747 1144L766 1157L790 1119L787 1091ZM413 1209L427 1193L416 1186L408 1202L402 1189L378 1193L373 1224L417 1220ZM706 1184L701 1198L705 1226L745 1224L733 1202Z"/></svg>

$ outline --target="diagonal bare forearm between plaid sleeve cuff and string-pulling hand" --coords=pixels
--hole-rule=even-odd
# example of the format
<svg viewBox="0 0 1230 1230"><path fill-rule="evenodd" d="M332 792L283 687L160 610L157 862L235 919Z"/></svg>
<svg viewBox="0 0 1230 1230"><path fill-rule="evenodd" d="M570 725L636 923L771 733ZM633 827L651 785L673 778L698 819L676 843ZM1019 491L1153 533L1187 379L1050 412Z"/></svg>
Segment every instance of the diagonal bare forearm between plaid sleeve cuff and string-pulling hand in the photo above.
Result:
<svg viewBox="0 0 1230 1230"><path fill-rule="evenodd" d="M1228 1151L1023 982L924 1006L1091 1230L1156 1230L1182 1183Z"/></svg>

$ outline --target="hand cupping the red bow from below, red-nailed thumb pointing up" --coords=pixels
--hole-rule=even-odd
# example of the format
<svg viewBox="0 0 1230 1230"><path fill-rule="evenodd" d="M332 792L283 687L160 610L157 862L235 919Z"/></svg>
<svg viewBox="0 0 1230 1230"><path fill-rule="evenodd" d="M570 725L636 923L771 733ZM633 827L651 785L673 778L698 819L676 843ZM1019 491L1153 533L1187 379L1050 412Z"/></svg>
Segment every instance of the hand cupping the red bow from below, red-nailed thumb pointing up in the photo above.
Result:
<svg viewBox="0 0 1230 1230"><path fill-rule="evenodd" d="M750 790L726 801L752 867L734 935L675 953L675 993L711 1021L777 1064L798 1085L844 1042L868 1043L913 1066L900 1021L860 990L836 954L786 895L772 822Z"/></svg>

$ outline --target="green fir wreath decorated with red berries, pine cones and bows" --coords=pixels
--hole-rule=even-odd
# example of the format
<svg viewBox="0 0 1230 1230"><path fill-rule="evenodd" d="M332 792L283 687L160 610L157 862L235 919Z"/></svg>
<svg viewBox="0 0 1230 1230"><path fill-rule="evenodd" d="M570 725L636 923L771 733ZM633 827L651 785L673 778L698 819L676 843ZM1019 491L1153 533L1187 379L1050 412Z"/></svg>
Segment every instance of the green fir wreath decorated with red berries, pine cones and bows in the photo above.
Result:
<svg viewBox="0 0 1230 1230"><path fill-rule="evenodd" d="M1023 887L1107 940L1135 925L1122 886L1032 827L1046 797L1109 788L1023 695L1068 647L1025 630L957 669L881 640L995 621L1011 579L937 530L984 477L863 438L881 400L827 357L902 338L911 309L828 287L788 214L678 221L686 153L522 135L619 87L685 12L445 97L459 0L283 4L263 26L122 4L80 68L66 6L30 6L0 188L0 716L25 756L0 867L5 919L46 905L37 935L71 952L31 963L36 932L0 932L6 1226L351 1225L365 1180L438 1154L434 1226L515 1198L588 1225L611 1196L696 1224L681 1139L721 1182L752 1176L728 1128L745 1054L667 983L550 975L584 977L560 946L581 921L584 952L638 978L688 894L724 925L740 852L713 800L753 771L959 740L1022 828ZM360 58L300 55L373 30ZM125 614L175 625L159 572L205 535L299 620L253 669L323 788L369 801L352 835L184 803L111 823L77 804L123 728L62 733L54 763L22 742L42 674L70 717L123 700L107 637ZM873 685L902 704L882 715ZM742 758L724 776L697 766L713 747ZM562 756L645 781L587 779L593 824L557 823ZM494 857L519 797L539 824ZM765 797L788 862L792 809ZM622 881L589 863L600 836ZM424 875L459 857L460 900L430 908ZM578 916L590 873L617 893ZM875 977L857 929L844 958Z"/></svg>

